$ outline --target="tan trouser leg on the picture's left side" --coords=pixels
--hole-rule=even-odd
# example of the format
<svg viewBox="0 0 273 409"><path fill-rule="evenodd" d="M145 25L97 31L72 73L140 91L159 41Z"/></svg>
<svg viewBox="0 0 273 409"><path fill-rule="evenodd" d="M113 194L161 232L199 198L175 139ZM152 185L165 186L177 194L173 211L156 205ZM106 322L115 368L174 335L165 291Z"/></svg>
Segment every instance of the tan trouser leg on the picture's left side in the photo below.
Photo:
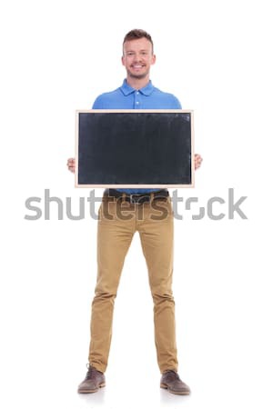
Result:
<svg viewBox="0 0 273 409"><path fill-rule="evenodd" d="M112 220L105 212L107 204ZM89 364L101 372L105 372L107 366L117 287L135 233L134 220L120 220L116 216L116 206L120 206L120 203L105 200L97 225L97 279L92 303Z"/></svg>

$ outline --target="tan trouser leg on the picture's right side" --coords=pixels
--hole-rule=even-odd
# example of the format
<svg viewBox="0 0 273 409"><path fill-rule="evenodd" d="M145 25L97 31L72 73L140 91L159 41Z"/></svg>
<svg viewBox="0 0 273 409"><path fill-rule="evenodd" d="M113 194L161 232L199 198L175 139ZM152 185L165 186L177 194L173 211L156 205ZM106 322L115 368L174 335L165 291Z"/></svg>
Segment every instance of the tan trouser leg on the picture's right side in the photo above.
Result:
<svg viewBox="0 0 273 409"><path fill-rule="evenodd" d="M147 204L143 221L137 223L137 230L147 261L154 300L157 362L163 373L167 369L177 371L175 301L172 293L174 217L170 200L157 201L157 206L164 210L165 217L162 220L151 219L152 214L155 216L156 213Z"/></svg>

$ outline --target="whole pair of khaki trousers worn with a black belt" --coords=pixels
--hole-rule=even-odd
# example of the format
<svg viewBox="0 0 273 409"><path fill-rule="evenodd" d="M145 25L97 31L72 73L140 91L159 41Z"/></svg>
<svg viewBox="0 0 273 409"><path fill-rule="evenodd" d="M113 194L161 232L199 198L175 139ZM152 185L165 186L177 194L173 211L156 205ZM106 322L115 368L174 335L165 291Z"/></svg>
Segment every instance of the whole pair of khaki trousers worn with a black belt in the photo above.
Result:
<svg viewBox="0 0 273 409"><path fill-rule="evenodd" d="M157 206L157 209L156 209ZM104 196L97 227L97 280L92 303L89 364L105 372L117 287L136 231L146 258L154 301L157 362L177 371L175 302L172 294L174 216L169 198L131 205Z"/></svg>

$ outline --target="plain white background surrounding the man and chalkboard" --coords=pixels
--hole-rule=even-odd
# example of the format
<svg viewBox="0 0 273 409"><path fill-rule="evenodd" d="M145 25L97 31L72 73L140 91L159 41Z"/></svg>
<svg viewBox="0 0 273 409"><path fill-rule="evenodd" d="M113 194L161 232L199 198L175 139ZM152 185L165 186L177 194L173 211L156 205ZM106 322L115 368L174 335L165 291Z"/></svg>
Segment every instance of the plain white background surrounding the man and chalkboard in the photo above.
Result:
<svg viewBox="0 0 273 409"><path fill-rule="evenodd" d="M1 3L1 406L107 409L272 408L272 17L269 1ZM66 170L75 110L116 89L127 31L154 39L153 83L195 110L195 190L248 199L220 221L176 221L179 374L192 394L159 389L147 269L136 235L116 298L107 386L86 374L96 283L96 221L25 220L45 189L74 213L88 189ZM102 191L96 191L101 195ZM197 209L197 208L196 208ZM227 213L216 205L215 213Z"/></svg>

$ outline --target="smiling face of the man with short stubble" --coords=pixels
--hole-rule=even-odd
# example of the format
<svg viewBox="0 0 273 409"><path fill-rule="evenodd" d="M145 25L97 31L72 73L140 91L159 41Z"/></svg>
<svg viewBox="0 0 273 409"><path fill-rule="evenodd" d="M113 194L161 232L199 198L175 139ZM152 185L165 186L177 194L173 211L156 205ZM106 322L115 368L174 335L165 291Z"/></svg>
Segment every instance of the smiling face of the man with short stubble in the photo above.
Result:
<svg viewBox="0 0 273 409"><path fill-rule="evenodd" d="M122 64L126 67L128 76L145 78L155 62L156 55L153 55L153 47L147 38L126 41L124 44Z"/></svg>

